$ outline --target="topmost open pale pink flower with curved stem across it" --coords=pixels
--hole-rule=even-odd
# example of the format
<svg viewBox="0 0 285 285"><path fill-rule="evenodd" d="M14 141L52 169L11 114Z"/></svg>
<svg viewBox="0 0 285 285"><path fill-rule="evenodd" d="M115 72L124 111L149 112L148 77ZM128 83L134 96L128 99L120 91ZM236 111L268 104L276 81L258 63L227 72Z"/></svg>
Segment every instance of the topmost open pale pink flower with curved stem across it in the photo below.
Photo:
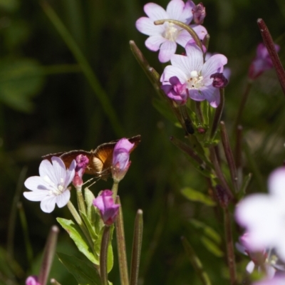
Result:
<svg viewBox="0 0 285 285"><path fill-rule="evenodd" d="M160 50L158 55L160 62L170 61L170 57L176 51L177 43L185 47L187 42L192 39L192 36L175 24L165 22L165 24L156 26L154 22L162 19L172 19L189 25L193 19L190 1L185 4L182 0L171 0L166 11L155 3L148 3L145 4L144 11L148 17L138 19L135 26L138 31L149 36L145 41L145 46L150 51ZM194 25L191 27L200 39L203 39L207 34L207 30L203 26Z"/></svg>

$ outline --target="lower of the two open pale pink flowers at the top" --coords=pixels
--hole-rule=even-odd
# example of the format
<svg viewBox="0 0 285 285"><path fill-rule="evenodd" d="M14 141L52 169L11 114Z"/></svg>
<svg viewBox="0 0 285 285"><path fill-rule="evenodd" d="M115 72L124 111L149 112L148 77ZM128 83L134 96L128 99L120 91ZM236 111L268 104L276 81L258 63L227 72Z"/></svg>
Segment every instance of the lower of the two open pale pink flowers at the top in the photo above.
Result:
<svg viewBox="0 0 285 285"><path fill-rule="evenodd" d="M219 89L212 86L213 78L210 76L223 72L227 58L215 54L204 63L203 53L197 45L187 43L185 50L187 56L171 56L172 66L166 66L160 78L162 86L170 85L170 78L176 76L182 85L186 85L180 96L189 94L192 100L207 100L216 108L219 105Z"/></svg>

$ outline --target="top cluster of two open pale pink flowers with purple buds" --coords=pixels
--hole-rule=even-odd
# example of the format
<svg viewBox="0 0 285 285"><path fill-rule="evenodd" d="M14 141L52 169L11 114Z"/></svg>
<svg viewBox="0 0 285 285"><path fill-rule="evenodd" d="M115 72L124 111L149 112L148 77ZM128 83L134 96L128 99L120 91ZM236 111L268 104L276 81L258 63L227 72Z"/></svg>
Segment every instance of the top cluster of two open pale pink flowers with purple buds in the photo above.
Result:
<svg viewBox="0 0 285 285"><path fill-rule="evenodd" d="M217 108L220 101L219 88L227 85L227 78L222 74L227 58L216 54L205 61L205 46L197 46L189 31L167 21L155 25L157 20L177 20L186 25L190 25L193 20L195 24L190 27L202 41L207 35L206 28L200 25L206 16L203 4L196 6L193 1L185 3L182 0L171 0L166 11L154 3L146 4L144 10L148 17L138 19L136 27L149 36L145 45L151 51L160 50L160 62L171 62L160 78L162 90L177 105L184 105L190 98L196 101L207 100L212 107ZM185 56L175 54L177 43L185 48Z"/></svg>

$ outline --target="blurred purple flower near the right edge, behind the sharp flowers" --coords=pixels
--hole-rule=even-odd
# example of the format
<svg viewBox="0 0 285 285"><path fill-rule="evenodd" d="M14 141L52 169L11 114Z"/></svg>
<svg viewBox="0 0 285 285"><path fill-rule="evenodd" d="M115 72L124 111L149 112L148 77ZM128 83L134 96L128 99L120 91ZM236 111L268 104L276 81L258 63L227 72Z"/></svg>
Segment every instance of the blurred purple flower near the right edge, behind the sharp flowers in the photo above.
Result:
<svg viewBox="0 0 285 285"><path fill-rule="evenodd" d="M278 52L280 46L275 45L275 49ZM257 46L257 56L252 61L252 64L249 66L249 78L254 80L261 76L264 71L273 68L273 63L269 56L266 46L264 43L259 43Z"/></svg>

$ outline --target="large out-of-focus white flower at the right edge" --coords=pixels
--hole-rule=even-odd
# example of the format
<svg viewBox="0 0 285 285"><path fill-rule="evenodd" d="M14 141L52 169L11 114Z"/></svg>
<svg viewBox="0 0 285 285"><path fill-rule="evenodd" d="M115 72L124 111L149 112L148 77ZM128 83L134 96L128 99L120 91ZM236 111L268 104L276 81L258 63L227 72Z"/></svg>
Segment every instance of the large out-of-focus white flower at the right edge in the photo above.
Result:
<svg viewBox="0 0 285 285"><path fill-rule="evenodd" d="M252 252L274 248L285 261L285 167L271 173L268 180L269 195L253 194L242 199L235 211L237 222L249 234Z"/></svg>

